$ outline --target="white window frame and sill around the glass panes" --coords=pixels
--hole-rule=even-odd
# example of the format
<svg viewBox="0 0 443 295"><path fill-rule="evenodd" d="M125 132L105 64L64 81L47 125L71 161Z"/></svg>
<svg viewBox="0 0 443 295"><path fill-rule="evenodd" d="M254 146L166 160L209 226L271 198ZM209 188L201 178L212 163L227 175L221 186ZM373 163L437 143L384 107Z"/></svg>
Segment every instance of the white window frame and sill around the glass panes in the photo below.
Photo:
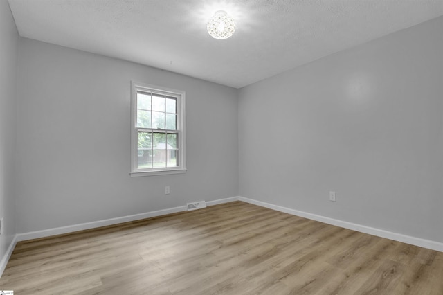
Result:
<svg viewBox="0 0 443 295"><path fill-rule="evenodd" d="M167 168L138 168L138 131L147 129L137 127L137 93L154 92L166 96L177 97L177 134L178 134L178 166ZM160 87L152 84L140 82L131 82L131 177L152 176L152 175L170 175L186 172L185 158L185 91ZM150 128L151 130L154 130Z"/></svg>

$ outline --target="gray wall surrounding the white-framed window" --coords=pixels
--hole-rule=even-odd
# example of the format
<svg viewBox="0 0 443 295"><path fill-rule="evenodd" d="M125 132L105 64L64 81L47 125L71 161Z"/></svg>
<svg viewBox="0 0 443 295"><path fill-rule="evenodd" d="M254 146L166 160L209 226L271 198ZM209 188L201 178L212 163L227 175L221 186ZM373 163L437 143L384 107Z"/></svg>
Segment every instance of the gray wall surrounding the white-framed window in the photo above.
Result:
<svg viewBox="0 0 443 295"><path fill-rule="evenodd" d="M30 39L19 45L18 233L237 196L236 89ZM129 177L131 80L186 91L186 174Z"/></svg>

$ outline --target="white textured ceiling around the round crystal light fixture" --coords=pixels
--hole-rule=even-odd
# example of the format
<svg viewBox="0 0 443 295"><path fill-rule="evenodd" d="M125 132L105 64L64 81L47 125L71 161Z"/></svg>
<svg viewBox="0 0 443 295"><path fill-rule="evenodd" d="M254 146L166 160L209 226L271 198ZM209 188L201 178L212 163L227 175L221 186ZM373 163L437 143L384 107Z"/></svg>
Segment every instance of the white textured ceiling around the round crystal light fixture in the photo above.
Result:
<svg viewBox="0 0 443 295"><path fill-rule="evenodd" d="M443 0L8 0L19 35L244 87L443 15ZM235 18L225 40L206 31Z"/></svg>

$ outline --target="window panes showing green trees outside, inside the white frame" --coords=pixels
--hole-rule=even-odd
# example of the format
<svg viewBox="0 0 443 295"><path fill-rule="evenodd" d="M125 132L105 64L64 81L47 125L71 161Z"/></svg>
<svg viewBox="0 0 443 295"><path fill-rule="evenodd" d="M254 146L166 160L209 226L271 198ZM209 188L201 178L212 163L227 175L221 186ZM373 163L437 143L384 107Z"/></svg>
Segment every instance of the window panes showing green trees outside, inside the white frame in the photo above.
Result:
<svg viewBox="0 0 443 295"><path fill-rule="evenodd" d="M179 166L177 98L137 92L138 168Z"/></svg>

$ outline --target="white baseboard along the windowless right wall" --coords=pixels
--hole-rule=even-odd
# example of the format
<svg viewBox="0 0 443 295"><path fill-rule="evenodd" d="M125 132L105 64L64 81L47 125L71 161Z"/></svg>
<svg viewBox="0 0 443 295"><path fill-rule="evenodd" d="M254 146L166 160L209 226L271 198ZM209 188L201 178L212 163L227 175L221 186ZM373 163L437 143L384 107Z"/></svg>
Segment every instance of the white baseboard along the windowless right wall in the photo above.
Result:
<svg viewBox="0 0 443 295"><path fill-rule="evenodd" d="M410 235L404 235L401 233L393 233L392 231L385 231L383 229L375 229L370 226L355 224L352 222L345 222L343 220L336 220L334 218L329 218L329 217L325 217L325 216L321 216L321 215L298 211L298 210L294 210L294 209L287 208L287 207L277 206L277 205L269 204L266 202L257 201L255 199L248 199L246 197L239 197L238 199L239 199L239 201L242 201L242 202L254 204L257 206L262 206L265 208L270 208L275 211L280 211L280 212L288 213L291 215L305 217L310 220L316 220L318 222L324 222L327 224L340 226L345 229L352 229L353 231L359 231L361 233L368 233L370 235L377 235L377 237L387 238L390 240L404 242L406 244L413 244L415 246L424 247L424 248L443 252L443 243L441 243L441 242L435 242L432 240L425 240L422 238L416 238L416 237L412 237Z"/></svg>

